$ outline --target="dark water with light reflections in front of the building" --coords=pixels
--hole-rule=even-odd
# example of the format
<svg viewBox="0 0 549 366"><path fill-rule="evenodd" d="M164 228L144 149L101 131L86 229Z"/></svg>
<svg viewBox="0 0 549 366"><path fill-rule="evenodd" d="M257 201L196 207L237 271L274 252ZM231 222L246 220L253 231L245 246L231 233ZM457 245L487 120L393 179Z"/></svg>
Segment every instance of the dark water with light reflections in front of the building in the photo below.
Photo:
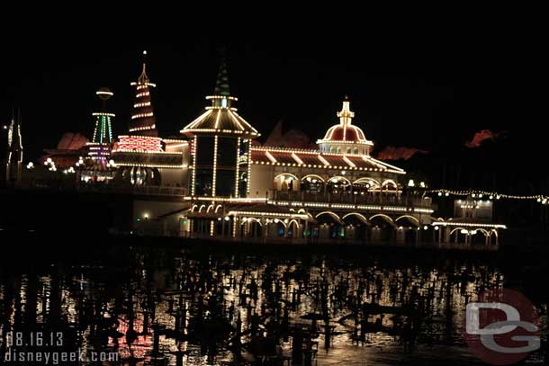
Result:
<svg viewBox="0 0 549 366"><path fill-rule="evenodd" d="M119 355L86 364L482 364L463 341L464 307L502 286L522 290L546 325L546 268L507 269L492 254L218 249L151 242L4 260L1 351L10 332L61 332L64 350ZM544 360L545 337L529 362Z"/></svg>

